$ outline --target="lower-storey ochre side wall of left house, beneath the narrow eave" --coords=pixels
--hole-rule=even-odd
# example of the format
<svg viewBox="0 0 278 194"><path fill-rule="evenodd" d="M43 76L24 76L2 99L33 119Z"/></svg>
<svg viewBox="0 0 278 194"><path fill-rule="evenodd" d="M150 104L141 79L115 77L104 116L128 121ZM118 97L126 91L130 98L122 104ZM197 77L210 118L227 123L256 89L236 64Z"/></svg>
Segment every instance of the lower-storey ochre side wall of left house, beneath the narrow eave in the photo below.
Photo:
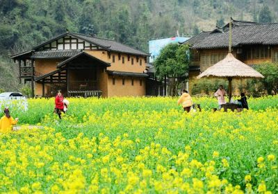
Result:
<svg viewBox="0 0 278 194"><path fill-rule="evenodd" d="M131 85L131 78L124 78L124 85L122 85L122 77L115 76L115 85L113 85L113 76L108 76L108 96L145 96L146 85L145 78L142 78L142 86L140 86L140 78L133 79Z"/></svg>

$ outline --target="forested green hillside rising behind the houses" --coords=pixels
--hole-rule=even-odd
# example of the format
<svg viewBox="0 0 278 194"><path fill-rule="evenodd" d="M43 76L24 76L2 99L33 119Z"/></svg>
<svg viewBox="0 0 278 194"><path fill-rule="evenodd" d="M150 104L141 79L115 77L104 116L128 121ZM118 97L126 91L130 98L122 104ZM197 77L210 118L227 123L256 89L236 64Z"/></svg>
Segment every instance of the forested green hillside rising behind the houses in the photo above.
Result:
<svg viewBox="0 0 278 194"><path fill-rule="evenodd" d="M149 39L191 36L229 21L277 21L276 0L1 0L0 61L65 32L115 39L148 52ZM262 11L263 10L263 11ZM270 13L270 14L268 14ZM12 62L8 62L12 63ZM0 83L15 68L0 62ZM10 64L15 66L15 64ZM3 67L5 66L5 67ZM9 72L10 71L10 72ZM5 73L4 73L5 72ZM12 77L13 79L13 77ZM0 88L5 88L2 84Z"/></svg>

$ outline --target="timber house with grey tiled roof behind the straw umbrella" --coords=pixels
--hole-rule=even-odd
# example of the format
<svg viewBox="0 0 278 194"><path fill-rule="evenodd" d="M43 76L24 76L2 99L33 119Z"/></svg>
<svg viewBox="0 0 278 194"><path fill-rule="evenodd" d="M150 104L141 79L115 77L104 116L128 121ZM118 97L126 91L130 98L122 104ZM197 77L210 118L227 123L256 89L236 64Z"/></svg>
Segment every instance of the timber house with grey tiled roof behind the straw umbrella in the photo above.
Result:
<svg viewBox="0 0 278 194"><path fill-rule="evenodd" d="M189 80L222 60L229 50L229 24L188 39L191 63ZM278 23L232 21L232 53L245 64L278 62Z"/></svg>

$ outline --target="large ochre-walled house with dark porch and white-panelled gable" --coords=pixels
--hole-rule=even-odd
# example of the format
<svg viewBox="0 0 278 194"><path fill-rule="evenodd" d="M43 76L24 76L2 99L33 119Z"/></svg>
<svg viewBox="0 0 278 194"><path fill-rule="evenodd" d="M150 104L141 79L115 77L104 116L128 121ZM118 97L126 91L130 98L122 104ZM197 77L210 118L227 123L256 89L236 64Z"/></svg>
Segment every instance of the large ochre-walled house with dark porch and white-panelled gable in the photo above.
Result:
<svg viewBox="0 0 278 194"><path fill-rule="evenodd" d="M109 39L63 33L17 53L19 81L33 96L145 96L147 53Z"/></svg>

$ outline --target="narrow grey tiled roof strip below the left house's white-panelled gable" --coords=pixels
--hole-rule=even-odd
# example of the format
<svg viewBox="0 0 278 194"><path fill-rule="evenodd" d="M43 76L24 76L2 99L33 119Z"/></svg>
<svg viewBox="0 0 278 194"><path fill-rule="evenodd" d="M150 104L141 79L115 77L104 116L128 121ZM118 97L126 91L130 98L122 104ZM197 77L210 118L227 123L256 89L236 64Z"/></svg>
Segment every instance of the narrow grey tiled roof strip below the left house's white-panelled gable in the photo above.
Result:
<svg viewBox="0 0 278 194"><path fill-rule="evenodd" d="M74 55L81 53L81 50L48 50L48 51L36 51L31 58L33 59L60 59L71 58Z"/></svg>

